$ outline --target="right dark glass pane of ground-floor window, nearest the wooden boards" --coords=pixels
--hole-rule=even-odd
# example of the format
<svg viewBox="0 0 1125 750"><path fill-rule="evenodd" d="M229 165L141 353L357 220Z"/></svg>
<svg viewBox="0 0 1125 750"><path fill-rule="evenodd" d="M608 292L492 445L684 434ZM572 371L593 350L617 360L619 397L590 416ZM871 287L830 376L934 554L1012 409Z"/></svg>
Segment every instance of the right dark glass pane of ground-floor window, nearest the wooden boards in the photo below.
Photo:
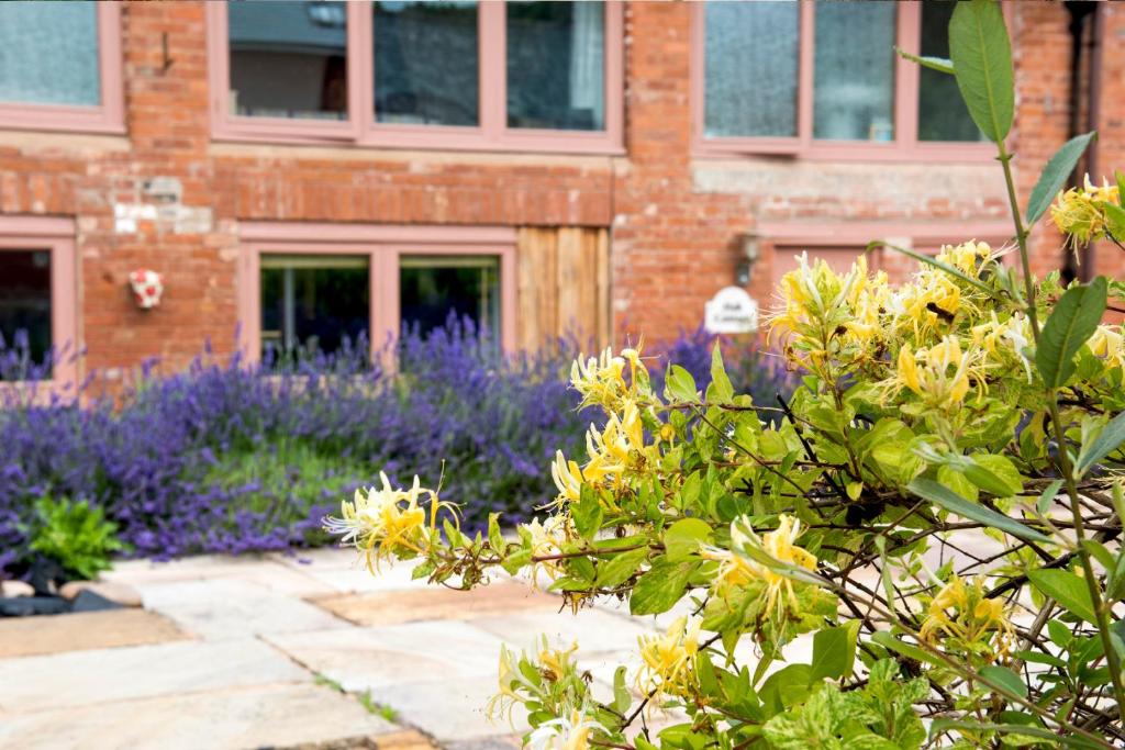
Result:
<svg viewBox="0 0 1125 750"><path fill-rule="evenodd" d="M500 262L495 257L416 256L402 260L402 320L425 334L450 314L500 334Z"/></svg>

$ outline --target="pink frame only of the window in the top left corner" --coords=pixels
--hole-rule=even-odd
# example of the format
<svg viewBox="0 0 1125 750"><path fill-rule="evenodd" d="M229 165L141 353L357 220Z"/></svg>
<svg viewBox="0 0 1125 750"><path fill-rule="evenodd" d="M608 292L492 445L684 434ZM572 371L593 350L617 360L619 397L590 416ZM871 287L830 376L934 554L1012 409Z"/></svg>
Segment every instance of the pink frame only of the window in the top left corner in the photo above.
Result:
<svg viewBox="0 0 1125 750"><path fill-rule="evenodd" d="M98 83L96 107L0 102L0 127L76 133L125 133L122 84L122 11L116 2L98 2Z"/></svg>

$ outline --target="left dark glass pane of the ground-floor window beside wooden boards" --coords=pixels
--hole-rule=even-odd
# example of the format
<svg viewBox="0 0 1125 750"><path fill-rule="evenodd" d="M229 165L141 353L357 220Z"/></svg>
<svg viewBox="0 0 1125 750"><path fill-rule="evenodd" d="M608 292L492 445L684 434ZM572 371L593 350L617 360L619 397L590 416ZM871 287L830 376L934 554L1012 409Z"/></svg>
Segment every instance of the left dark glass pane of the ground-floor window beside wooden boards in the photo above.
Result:
<svg viewBox="0 0 1125 750"><path fill-rule="evenodd" d="M331 353L370 325L366 256L263 255L262 354Z"/></svg>

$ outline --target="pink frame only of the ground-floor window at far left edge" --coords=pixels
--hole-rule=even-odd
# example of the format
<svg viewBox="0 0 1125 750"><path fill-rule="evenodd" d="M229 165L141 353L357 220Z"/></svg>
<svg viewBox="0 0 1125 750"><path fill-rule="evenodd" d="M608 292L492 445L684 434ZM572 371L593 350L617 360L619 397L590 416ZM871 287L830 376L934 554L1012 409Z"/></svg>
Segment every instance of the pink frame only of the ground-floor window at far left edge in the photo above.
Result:
<svg viewBox="0 0 1125 750"><path fill-rule="evenodd" d="M0 216L0 256L18 250L51 253L51 345L61 353L50 380L0 381L0 404L6 397L32 395L34 401L52 397L71 400L78 395L78 259L74 222L42 216Z"/></svg>

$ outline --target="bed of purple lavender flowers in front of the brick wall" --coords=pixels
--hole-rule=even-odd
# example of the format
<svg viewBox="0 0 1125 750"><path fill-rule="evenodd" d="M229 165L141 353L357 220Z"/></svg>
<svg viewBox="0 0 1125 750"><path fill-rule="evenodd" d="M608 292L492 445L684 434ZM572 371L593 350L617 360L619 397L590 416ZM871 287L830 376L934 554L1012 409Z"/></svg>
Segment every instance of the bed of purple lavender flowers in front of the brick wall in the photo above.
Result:
<svg viewBox="0 0 1125 750"><path fill-rule="evenodd" d="M704 387L712 342L695 333L665 351ZM366 351L359 342L252 368L205 352L183 372L150 369L116 408L108 399L8 404L0 570L25 572L43 496L100 506L133 554L156 559L327 543L320 518L379 470L400 484L444 476L443 498L470 527L493 510L525 519L555 494L555 451L579 455L595 418L576 410L567 383L574 342L498 361L494 342L451 322L425 338L406 332L394 377ZM772 403L791 388L773 361L749 353L732 362L736 387ZM0 380L28 372L26 355L0 342Z"/></svg>

